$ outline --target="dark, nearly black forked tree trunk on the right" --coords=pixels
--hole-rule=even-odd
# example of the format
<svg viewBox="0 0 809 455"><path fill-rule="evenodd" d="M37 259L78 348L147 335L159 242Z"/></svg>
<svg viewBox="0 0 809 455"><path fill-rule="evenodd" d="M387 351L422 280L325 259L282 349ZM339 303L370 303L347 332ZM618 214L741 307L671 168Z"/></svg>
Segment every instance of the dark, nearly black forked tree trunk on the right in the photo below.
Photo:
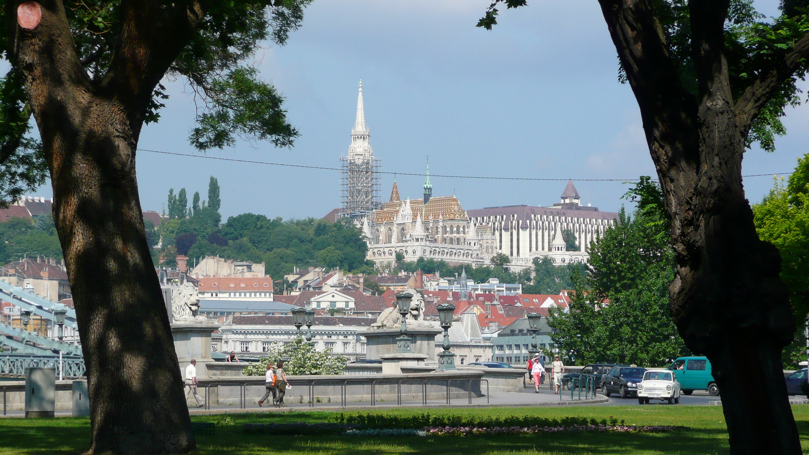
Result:
<svg viewBox="0 0 809 455"><path fill-rule="evenodd" d="M671 316L688 348L713 365L731 453L801 453L781 372L781 349L794 334L781 257L756 235L741 174L750 123L768 100L762 87L777 87L789 62L735 104L724 56L728 2L692 0L693 96L648 0L599 3L671 215ZM751 381L765 387L752 391Z"/></svg>

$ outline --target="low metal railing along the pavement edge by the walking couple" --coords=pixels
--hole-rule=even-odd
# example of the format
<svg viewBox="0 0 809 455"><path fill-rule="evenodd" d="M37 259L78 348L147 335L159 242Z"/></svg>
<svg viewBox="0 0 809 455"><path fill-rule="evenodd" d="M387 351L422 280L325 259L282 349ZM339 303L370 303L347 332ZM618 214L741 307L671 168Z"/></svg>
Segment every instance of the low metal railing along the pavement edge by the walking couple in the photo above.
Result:
<svg viewBox="0 0 809 455"><path fill-rule="evenodd" d="M423 379L324 379L319 381L290 381L292 385L299 385L305 384L307 387L307 394L308 394L308 402L307 404L309 407L315 407L316 402L316 394L315 394L315 387L316 385L340 385L340 407L348 407L348 392L347 388L349 383L352 385L362 385L367 384L371 385L371 406L376 406L376 386L377 385L396 385L396 406L402 406L404 402L402 400L402 392L401 387L403 383L417 383L421 385L421 404L425 405L428 402L428 387L430 382L440 382L443 383L445 389L445 400L447 405L451 404L451 382L465 382L467 383L466 392L468 394L468 404L472 404L472 384L477 381L480 389L480 385L483 382L486 383L486 404L489 404L489 380L487 379L430 379L430 378L423 378ZM205 409L210 410L210 388L214 387L218 392L218 387L222 385L238 385L239 386L239 409L247 409L247 388L250 385L265 385L263 381L256 381L256 382L214 382L210 384L200 384L197 387L204 387L205 388ZM218 393L217 393L218 399Z"/></svg>

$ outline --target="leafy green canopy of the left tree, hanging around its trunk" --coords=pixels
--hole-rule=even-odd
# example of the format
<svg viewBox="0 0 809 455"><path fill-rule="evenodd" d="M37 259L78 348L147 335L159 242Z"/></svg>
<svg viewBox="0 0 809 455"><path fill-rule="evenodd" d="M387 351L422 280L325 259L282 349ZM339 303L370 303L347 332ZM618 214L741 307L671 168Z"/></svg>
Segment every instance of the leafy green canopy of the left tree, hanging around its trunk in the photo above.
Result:
<svg viewBox="0 0 809 455"><path fill-rule="evenodd" d="M264 139L276 146L292 145L299 133L286 121L283 97L261 81L256 70L244 66L270 40L286 44L299 28L311 0L244 0L211 2L205 19L166 76L184 79L197 102L197 126L189 142L199 151L232 146L236 138ZM15 23L10 2L0 9L0 23ZM65 10L78 58L93 83L111 76L113 51L122 36L122 2L66 0ZM180 6L180 10L182 6ZM2 58L13 57L9 35L0 36ZM158 84L145 121L159 121L167 100L166 87ZM0 203L8 203L44 183L48 168L41 144L31 137L31 111L19 73L12 67L0 79ZM214 179L215 180L215 179ZM209 205L218 210L209 190Z"/></svg>

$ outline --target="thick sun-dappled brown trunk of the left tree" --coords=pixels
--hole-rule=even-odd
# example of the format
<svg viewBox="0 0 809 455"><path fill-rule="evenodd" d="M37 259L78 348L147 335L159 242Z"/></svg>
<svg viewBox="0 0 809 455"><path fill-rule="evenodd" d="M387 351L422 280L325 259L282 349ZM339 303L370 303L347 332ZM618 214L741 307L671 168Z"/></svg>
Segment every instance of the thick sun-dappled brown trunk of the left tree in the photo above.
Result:
<svg viewBox="0 0 809 455"><path fill-rule="evenodd" d="M185 453L195 442L135 172L143 113L165 69L133 61L150 52L138 53L133 46L142 42L130 40L133 46L118 43L130 60L116 66L116 76L91 81L61 1L40 5L36 28L15 27L14 64L53 185L53 219L87 365L88 453ZM157 60L170 62L159 54Z"/></svg>

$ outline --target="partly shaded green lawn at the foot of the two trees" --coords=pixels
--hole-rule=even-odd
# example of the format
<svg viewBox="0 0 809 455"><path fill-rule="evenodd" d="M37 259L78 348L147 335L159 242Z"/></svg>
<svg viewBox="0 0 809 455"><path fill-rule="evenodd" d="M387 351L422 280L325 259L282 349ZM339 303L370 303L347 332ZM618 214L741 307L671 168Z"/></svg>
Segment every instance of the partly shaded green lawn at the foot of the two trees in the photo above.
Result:
<svg viewBox="0 0 809 455"><path fill-rule="evenodd" d="M793 406L804 453L809 453L809 406ZM424 409L374 410L371 412L413 415ZM243 423L328 422L339 413L330 411L263 412L204 415L194 422L217 423L215 436L197 436L200 455L259 455L273 453L306 455L376 454L706 454L727 453L727 432L719 406L570 406L563 408L472 408L430 409L446 415L568 415L594 419L625 419L634 425L680 425L688 430L669 433L555 433L535 436L263 436L245 435ZM357 411L345 412L346 415ZM229 417L230 419L226 419ZM227 421L227 423L225 423ZM89 419L2 419L0 455L75 454L87 449Z"/></svg>

